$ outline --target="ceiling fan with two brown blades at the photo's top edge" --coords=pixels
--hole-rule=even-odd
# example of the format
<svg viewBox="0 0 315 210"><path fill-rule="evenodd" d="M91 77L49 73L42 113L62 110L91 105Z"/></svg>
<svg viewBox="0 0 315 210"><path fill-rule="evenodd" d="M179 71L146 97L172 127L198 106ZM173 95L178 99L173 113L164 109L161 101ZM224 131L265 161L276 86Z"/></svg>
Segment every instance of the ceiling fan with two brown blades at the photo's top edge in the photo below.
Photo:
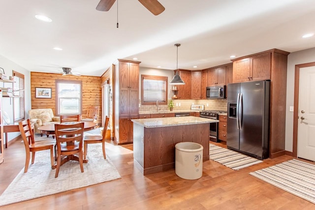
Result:
<svg viewBox="0 0 315 210"><path fill-rule="evenodd" d="M108 11L116 0L100 0L96 6L98 11ZM144 7L146 7L154 15L159 15L165 8L158 2L158 0L138 0Z"/></svg>

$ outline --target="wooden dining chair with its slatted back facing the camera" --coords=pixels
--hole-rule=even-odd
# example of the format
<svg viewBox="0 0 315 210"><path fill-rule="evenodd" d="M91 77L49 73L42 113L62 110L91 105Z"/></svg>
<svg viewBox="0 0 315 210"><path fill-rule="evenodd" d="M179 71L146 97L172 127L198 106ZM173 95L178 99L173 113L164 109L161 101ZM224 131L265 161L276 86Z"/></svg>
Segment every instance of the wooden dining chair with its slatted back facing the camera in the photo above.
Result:
<svg viewBox="0 0 315 210"><path fill-rule="evenodd" d="M77 160L83 173L83 132L84 122L75 124L55 124L57 141L57 169L55 178L58 177L60 166L69 160ZM75 156L78 154L78 156Z"/></svg>

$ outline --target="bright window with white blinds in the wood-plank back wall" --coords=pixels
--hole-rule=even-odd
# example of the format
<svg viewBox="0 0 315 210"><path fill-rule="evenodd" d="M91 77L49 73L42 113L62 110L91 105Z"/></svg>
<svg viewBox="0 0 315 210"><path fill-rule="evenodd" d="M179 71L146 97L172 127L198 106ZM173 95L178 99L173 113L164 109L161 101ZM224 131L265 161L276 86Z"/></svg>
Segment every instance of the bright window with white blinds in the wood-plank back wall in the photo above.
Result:
<svg viewBox="0 0 315 210"><path fill-rule="evenodd" d="M56 83L58 115L81 115L82 82L57 80Z"/></svg>

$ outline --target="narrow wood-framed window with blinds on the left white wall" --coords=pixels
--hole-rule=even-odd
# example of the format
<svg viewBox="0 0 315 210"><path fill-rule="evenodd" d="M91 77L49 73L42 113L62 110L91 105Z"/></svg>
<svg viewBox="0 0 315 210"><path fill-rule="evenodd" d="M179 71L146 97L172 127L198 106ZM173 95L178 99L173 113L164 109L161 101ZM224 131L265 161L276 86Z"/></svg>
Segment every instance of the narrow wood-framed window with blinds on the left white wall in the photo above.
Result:
<svg viewBox="0 0 315 210"><path fill-rule="evenodd" d="M13 118L14 122L25 119L24 74L13 71Z"/></svg>

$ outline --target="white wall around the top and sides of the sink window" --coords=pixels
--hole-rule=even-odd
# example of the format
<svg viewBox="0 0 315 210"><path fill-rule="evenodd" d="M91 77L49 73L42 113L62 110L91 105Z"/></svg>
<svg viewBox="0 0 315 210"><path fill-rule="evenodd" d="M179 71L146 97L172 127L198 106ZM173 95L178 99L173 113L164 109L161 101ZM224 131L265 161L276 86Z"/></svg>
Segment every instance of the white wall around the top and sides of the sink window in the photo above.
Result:
<svg viewBox="0 0 315 210"><path fill-rule="evenodd" d="M171 99L172 96L174 95L172 88L173 86L170 85L169 83L174 77L174 71L172 70L166 70L166 69L156 69L156 68L144 68L140 67L139 69L139 75L140 75L140 80L139 80L139 99L141 99L141 74L145 75L153 75L153 76L163 76L163 77L168 77L167 81L167 89L168 89L168 94L167 94L167 99Z"/></svg>

